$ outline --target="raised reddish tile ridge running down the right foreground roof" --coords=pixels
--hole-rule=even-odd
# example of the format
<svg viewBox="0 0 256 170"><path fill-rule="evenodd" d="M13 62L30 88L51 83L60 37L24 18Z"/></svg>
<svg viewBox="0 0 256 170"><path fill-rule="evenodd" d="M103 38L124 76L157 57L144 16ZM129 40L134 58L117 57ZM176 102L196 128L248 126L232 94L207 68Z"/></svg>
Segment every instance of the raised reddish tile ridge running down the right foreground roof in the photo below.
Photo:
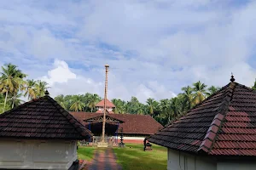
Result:
<svg viewBox="0 0 256 170"><path fill-rule="evenodd" d="M218 132L222 127L222 124L224 122L224 117L226 116L226 113L229 111L229 105L232 100L232 96L234 93L234 90L236 88L235 82L230 82L228 88L225 90L225 96L222 101L222 104L219 106L218 114L214 116L211 126L209 127L207 134L205 138L203 139L198 152L204 151L207 153L210 153L213 145L215 143L215 140L218 138Z"/></svg>

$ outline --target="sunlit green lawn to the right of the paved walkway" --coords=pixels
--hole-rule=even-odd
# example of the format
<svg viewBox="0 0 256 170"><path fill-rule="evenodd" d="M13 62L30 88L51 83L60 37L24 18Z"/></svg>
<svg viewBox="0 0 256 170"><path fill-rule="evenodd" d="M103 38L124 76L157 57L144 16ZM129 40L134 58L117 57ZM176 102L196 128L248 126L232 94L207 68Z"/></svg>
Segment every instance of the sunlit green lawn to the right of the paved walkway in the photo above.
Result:
<svg viewBox="0 0 256 170"><path fill-rule="evenodd" d="M125 144L125 148L113 148L123 170L166 170L167 149L152 144L152 151L144 151L143 144Z"/></svg>

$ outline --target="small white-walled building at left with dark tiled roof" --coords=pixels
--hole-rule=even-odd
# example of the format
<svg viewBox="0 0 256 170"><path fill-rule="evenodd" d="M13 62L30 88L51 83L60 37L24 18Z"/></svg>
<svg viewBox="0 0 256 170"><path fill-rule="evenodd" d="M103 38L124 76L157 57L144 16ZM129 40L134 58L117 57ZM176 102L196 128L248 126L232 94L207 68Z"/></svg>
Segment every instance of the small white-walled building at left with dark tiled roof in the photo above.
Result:
<svg viewBox="0 0 256 170"><path fill-rule="evenodd" d="M47 94L47 93L46 93ZM91 133L48 95L0 115L0 168L69 169Z"/></svg>

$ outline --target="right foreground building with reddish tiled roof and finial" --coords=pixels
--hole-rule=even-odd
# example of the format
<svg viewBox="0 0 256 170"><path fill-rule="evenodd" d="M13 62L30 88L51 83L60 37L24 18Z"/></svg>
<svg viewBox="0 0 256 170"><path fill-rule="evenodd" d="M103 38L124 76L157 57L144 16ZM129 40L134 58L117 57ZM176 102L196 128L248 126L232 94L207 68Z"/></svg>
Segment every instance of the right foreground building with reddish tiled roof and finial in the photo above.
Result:
<svg viewBox="0 0 256 170"><path fill-rule="evenodd" d="M256 169L256 93L230 80L148 138L168 148L168 170Z"/></svg>

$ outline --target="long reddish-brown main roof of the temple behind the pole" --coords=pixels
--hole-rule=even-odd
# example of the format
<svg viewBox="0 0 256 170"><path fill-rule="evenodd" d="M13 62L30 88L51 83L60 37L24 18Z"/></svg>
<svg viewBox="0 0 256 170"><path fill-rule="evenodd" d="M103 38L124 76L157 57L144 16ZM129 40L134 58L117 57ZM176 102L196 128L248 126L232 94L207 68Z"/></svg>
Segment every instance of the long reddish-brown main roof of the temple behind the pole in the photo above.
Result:
<svg viewBox="0 0 256 170"><path fill-rule="evenodd" d="M102 113L88 112L71 112L71 114L80 122L103 115ZM123 127L123 133L154 134L163 128L159 122L155 121L154 118L148 115L109 114L108 116L124 122L119 124L119 129Z"/></svg>

